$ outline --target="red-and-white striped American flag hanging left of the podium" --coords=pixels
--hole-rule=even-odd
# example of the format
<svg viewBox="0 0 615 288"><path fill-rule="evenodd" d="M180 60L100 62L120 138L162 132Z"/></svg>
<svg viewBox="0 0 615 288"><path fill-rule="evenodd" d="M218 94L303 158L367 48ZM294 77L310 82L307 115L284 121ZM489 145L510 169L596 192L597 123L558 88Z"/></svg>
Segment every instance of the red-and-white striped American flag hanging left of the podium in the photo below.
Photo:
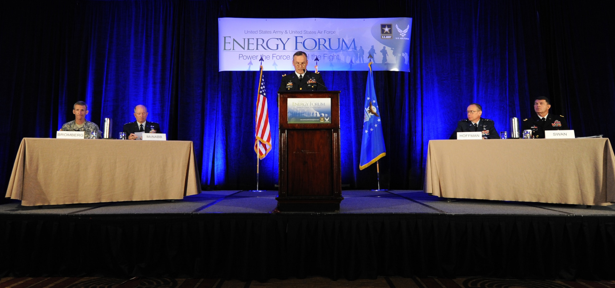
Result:
<svg viewBox="0 0 615 288"><path fill-rule="evenodd" d="M256 140L254 141L254 151L259 159L265 158L271 150L271 130L269 128L269 111L267 109L266 95L263 66L261 66L258 99L256 99Z"/></svg>

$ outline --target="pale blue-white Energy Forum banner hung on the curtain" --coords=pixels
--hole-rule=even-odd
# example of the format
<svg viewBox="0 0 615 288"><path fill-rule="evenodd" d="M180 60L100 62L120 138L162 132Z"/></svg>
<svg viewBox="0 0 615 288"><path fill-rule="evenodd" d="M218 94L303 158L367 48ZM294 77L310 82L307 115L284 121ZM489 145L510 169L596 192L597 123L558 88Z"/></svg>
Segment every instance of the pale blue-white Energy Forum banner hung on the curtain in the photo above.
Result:
<svg viewBox="0 0 615 288"><path fill-rule="evenodd" d="M412 18L218 18L220 71L293 71L293 54L308 70L410 72ZM319 61L316 61L316 60Z"/></svg>

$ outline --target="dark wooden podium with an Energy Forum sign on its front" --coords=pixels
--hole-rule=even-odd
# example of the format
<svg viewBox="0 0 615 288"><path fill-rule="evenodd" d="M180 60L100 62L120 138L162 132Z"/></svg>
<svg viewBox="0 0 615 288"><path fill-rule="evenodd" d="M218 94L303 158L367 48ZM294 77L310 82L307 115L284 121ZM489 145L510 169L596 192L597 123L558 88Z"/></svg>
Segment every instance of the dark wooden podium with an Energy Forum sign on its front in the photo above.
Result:
<svg viewBox="0 0 615 288"><path fill-rule="evenodd" d="M329 101L330 114L326 107ZM339 203L344 199L339 157L339 91L280 92L278 103L277 209L339 211Z"/></svg>

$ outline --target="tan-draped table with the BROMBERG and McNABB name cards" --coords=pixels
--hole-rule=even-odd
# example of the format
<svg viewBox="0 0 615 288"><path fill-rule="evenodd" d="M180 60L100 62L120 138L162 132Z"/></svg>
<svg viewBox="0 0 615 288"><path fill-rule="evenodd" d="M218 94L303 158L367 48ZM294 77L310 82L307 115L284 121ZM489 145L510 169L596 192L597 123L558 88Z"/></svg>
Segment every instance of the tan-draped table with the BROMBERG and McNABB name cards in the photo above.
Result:
<svg viewBox="0 0 615 288"><path fill-rule="evenodd" d="M23 138L6 197L23 206L200 193L192 141Z"/></svg>

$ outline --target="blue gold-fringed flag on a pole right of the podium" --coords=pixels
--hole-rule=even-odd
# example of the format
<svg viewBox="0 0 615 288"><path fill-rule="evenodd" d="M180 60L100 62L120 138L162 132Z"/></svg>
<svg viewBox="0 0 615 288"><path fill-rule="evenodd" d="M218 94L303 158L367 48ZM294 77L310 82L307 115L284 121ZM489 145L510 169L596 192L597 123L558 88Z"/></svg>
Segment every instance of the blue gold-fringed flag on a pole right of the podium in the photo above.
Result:
<svg viewBox="0 0 615 288"><path fill-rule="evenodd" d="M365 105L363 106L363 138L361 139L361 160L359 169L363 170L372 163L386 155L384 149L384 135L376 91L374 89L374 76L370 71L367 75L365 87Z"/></svg>

